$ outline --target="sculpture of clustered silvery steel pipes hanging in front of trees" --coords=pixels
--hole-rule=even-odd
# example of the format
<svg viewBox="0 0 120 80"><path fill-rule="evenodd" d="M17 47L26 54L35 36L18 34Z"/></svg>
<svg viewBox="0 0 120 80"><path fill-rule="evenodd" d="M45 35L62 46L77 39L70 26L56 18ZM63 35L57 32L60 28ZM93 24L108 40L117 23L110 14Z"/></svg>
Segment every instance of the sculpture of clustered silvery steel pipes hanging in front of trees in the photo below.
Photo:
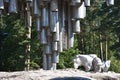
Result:
<svg viewBox="0 0 120 80"><path fill-rule="evenodd" d="M114 5L114 0L106 2ZM55 70L59 52L73 47L74 34L80 32L80 19L86 16L86 6L90 6L90 0L0 0L0 14L21 13L29 33L32 18L35 19L38 39L44 47L43 69ZM29 48L30 45L28 51Z"/></svg>

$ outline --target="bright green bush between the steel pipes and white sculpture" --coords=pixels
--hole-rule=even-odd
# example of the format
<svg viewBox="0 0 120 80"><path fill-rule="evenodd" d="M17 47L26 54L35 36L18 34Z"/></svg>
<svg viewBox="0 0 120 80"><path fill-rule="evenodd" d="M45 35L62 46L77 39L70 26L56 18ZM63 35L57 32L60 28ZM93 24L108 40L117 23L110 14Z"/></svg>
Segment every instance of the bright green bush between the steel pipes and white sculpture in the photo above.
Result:
<svg viewBox="0 0 120 80"><path fill-rule="evenodd" d="M60 62L58 63L58 68L73 68L73 57L76 54L80 54L81 51L75 48L69 48L62 53L60 53Z"/></svg>

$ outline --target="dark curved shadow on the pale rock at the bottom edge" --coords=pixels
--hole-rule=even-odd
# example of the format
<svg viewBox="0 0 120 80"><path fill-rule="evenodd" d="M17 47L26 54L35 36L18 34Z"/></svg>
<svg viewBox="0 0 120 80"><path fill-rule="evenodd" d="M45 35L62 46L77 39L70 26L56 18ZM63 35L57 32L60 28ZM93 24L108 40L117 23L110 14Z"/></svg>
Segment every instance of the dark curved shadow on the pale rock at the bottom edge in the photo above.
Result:
<svg viewBox="0 0 120 80"><path fill-rule="evenodd" d="M50 80L91 80L91 79L84 77L57 77Z"/></svg>

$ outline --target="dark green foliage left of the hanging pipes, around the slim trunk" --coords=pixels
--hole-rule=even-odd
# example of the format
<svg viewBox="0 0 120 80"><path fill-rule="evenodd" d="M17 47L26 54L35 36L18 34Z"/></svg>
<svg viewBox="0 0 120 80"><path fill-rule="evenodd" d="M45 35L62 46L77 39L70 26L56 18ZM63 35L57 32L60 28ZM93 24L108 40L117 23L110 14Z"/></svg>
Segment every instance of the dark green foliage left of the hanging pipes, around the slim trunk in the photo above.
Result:
<svg viewBox="0 0 120 80"><path fill-rule="evenodd" d="M19 71L25 67L26 44L31 44L31 68L36 69L41 66L41 46L37 39L35 27L32 29L32 40L26 39L26 28L24 19L19 14L2 16L0 29L8 33L0 45L0 70ZM40 53L41 52L41 53Z"/></svg>

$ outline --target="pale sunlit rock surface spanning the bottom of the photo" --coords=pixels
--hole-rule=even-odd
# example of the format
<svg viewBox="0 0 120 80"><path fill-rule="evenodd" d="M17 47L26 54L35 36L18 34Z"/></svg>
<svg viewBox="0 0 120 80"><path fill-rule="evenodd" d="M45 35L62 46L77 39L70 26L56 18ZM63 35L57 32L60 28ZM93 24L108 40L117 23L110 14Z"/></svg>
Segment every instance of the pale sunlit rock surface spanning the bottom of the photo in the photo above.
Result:
<svg viewBox="0 0 120 80"><path fill-rule="evenodd" d="M115 72L84 72L74 69L0 72L0 80L120 80Z"/></svg>

